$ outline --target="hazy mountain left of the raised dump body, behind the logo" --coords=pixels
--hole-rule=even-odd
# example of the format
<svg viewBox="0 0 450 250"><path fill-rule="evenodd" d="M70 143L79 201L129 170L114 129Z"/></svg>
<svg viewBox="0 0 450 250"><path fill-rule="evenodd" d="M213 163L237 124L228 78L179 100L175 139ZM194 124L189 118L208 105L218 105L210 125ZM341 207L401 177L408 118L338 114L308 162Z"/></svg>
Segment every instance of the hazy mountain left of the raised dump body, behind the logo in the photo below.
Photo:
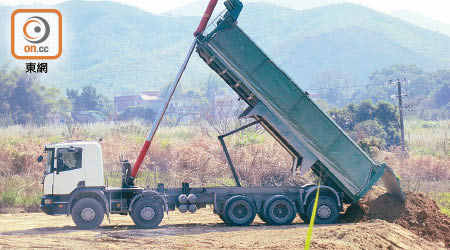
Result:
<svg viewBox="0 0 450 250"><path fill-rule="evenodd" d="M43 81L61 89L93 84L109 96L160 89L172 81L199 22L198 17L154 15L114 2L68 1L45 7L62 13L63 53L49 62ZM5 15L2 9L0 23L9 25L12 9ZM9 41L1 42L1 48L9 48ZM8 50L3 51L11 59ZM206 78L204 63L193 59L183 79Z"/></svg>

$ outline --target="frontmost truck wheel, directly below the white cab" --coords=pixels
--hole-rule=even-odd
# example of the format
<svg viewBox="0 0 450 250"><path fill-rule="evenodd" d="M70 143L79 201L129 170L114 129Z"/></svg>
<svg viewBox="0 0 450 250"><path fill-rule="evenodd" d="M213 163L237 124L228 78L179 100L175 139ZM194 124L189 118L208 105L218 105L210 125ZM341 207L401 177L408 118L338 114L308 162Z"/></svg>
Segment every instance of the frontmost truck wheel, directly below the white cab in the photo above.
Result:
<svg viewBox="0 0 450 250"><path fill-rule="evenodd" d="M72 208L72 220L79 229L95 229L103 221L105 210L102 204L92 198L83 198Z"/></svg>

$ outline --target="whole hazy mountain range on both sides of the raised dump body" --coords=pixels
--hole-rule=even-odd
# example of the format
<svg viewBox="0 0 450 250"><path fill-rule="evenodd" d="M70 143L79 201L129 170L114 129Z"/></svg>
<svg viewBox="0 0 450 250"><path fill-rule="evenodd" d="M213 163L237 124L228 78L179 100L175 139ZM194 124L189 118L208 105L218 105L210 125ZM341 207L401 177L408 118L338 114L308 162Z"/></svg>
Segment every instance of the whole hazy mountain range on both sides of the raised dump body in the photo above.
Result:
<svg viewBox="0 0 450 250"><path fill-rule="evenodd" d="M204 6L203 6L204 7ZM46 85L65 89L93 84L113 96L160 89L171 82L193 41L199 17L154 15L101 1L69 1L63 15L63 54L51 61ZM224 9L218 5L217 9ZM0 7L0 29L9 31L10 7ZM380 68L413 63L449 68L450 37L354 4L298 11L248 3L239 26L299 85L315 74L341 70L360 84ZM0 37L0 62L12 59L9 36ZM201 89L212 71L193 55L181 87Z"/></svg>

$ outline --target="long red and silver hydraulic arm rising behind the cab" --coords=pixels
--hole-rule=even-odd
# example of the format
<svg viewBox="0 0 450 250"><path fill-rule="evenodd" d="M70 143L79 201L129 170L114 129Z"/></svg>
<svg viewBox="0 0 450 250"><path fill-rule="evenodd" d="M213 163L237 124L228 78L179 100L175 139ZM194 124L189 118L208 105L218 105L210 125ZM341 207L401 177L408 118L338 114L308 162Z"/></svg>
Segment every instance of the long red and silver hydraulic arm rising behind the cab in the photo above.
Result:
<svg viewBox="0 0 450 250"><path fill-rule="evenodd" d="M216 7L217 0L210 0L208 7L206 8L205 14L202 17L202 20L200 21L200 24L197 27L197 30L194 33L194 36L197 37L203 30L205 29L206 25L208 24L209 18L211 17L212 12L214 11L214 8ZM186 69L186 65L189 62L189 59L191 58L192 52L194 51L196 39L192 42L191 47L189 48L188 54L186 55L186 58L184 59L183 64L181 65L180 70L178 71L178 74L175 78L175 81L170 85L169 91L164 98L163 105L161 109L158 112L158 115L156 116L155 122L152 125L152 129L150 130L147 139L144 142L144 145L142 146L141 151L139 152L139 156L136 159L136 162L134 163L134 166L131 170L131 178L136 178L136 175L139 171L139 168L141 167L142 162L144 161L145 155L147 154L148 149L150 148L150 144L152 142L153 136L156 133L156 130L158 129L159 124L161 123L161 120L164 116L164 113L166 112L167 107L169 106L169 102L172 99L173 93L175 92L175 89L177 88L178 82L181 79L181 76L183 75L184 70Z"/></svg>

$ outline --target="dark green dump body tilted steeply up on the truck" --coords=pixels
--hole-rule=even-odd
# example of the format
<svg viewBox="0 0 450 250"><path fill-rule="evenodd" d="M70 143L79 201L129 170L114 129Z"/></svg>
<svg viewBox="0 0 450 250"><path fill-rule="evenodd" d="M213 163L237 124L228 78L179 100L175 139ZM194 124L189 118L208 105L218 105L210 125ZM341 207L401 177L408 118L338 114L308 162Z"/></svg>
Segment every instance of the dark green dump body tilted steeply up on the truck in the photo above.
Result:
<svg viewBox="0 0 450 250"><path fill-rule="evenodd" d="M312 168L359 200L383 175L376 164L226 16L198 38L197 52L247 102L244 117L264 127L291 153L301 173Z"/></svg>

